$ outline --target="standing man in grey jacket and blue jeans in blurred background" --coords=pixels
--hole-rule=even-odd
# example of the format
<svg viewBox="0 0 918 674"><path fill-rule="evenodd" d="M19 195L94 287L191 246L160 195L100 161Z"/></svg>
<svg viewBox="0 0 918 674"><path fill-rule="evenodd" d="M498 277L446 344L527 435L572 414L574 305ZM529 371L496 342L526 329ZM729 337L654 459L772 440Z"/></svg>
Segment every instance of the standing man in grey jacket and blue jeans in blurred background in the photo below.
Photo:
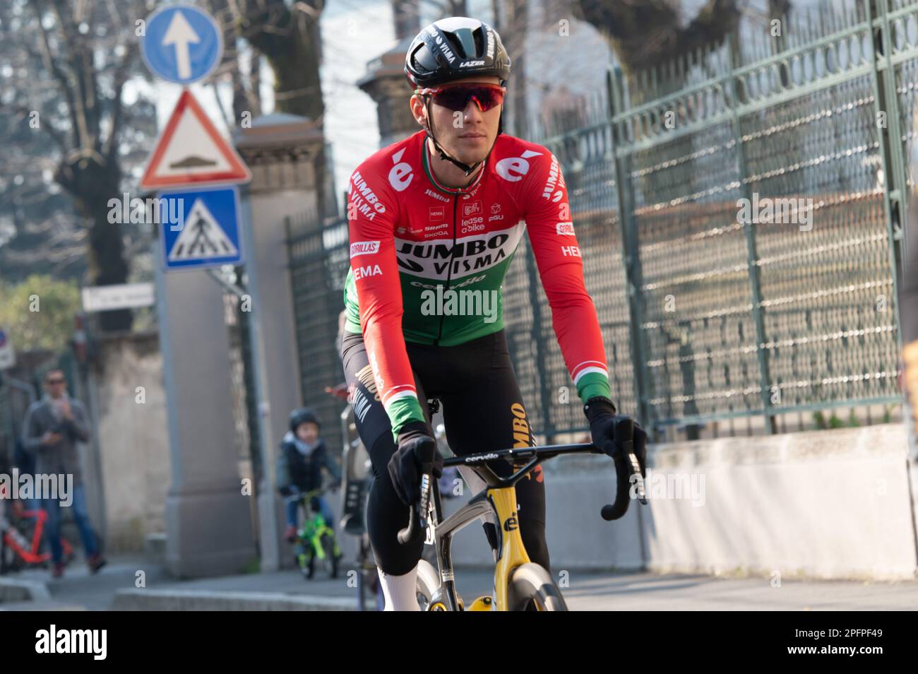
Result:
<svg viewBox="0 0 918 674"><path fill-rule="evenodd" d="M86 410L79 400L73 400L67 395L67 379L62 370L47 372L44 388L44 397L29 405L26 411L26 419L22 423L22 445L29 454L36 456L38 475L73 476L73 521L83 539L86 564L90 572L95 573L106 565L106 560L99 553L89 513L86 511L80 455L76 448L77 442L89 441ZM60 578L64 568L61 502L59 499L43 498L42 507L48 513L45 535L54 562L51 576Z"/></svg>

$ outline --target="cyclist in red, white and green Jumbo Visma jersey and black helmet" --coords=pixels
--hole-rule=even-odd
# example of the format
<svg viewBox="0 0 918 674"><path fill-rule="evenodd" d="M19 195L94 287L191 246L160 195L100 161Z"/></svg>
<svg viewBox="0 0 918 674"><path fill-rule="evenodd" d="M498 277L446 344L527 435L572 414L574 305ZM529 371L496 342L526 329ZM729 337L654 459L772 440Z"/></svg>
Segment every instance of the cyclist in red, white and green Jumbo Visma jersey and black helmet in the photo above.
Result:
<svg viewBox="0 0 918 674"><path fill-rule="evenodd" d="M419 500L419 466L432 461L434 475L442 474L426 400L442 401L457 455L533 445L499 294L524 229L593 442L610 455L617 455L622 419L610 399L557 160L541 145L501 133L510 60L498 33L467 17L436 21L411 43L405 72L416 87L410 107L421 130L375 152L351 177L341 340L376 477L367 528L388 611L419 609L423 541L400 545L397 532ZM639 451L645 439L637 427ZM492 463L498 475L509 474L507 462ZM548 569L540 469L521 480L517 495L523 543Z"/></svg>

